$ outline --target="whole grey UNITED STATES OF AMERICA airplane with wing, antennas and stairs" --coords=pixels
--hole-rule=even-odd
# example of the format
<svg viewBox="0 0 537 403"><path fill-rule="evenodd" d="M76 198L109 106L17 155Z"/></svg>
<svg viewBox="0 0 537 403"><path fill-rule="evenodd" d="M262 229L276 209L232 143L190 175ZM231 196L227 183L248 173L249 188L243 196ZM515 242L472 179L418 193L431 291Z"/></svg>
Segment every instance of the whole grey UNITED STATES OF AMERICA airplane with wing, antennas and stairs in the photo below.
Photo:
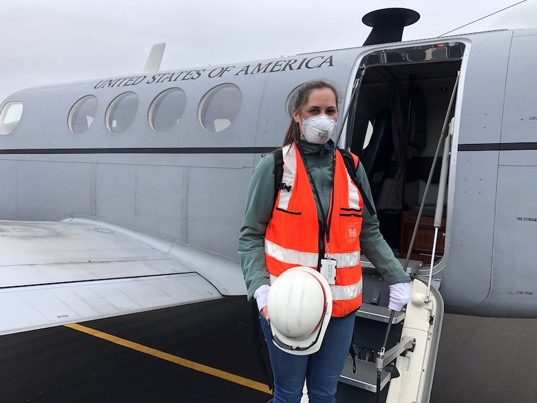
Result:
<svg viewBox="0 0 537 403"><path fill-rule="evenodd" d="M159 44L140 74L8 96L0 334L244 295L249 178L282 145L297 87L323 78L343 95L335 141L361 158L413 279L390 317L364 257L341 382L428 402L444 312L537 318L537 30L401 41L418 19L377 10L357 48L233 65L159 71Z"/></svg>

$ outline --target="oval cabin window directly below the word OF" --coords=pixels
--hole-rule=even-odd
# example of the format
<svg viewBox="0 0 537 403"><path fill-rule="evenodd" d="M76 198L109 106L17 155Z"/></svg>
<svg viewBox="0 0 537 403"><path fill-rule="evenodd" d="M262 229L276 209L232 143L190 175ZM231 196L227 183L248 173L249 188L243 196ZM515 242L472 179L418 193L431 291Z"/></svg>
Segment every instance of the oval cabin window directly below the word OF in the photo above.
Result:
<svg viewBox="0 0 537 403"><path fill-rule="evenodd" d="M218 85L202 98L198 108L198 120L205 130L220 132L233 123L241 102L242 96L237 85Z"/></svg>

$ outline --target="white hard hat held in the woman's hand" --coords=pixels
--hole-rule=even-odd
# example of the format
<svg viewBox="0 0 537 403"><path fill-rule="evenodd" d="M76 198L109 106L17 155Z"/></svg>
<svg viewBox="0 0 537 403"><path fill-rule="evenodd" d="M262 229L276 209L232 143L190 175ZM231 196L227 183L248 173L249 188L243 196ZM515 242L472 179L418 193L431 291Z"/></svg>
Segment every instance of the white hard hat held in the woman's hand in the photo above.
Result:
<svg viewBox="0 0 537 403"><path fill-rule="evenodd" d="M318 271L304 266L284 271L268 291L266 308L277 347L295 355L319 351L332 314L332 293Z"/></svg>

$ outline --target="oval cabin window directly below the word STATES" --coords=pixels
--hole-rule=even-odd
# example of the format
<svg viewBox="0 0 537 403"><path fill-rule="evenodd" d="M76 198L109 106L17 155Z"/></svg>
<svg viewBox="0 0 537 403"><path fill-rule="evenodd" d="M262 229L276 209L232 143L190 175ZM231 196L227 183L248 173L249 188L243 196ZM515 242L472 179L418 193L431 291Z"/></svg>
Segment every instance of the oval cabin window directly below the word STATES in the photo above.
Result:
<svg viewBox="0 0 537 403"><path fill-rule="evenodd" d="M185 112L187 97L180 88L160 92L149 107L149 125L155 132L164 133L176 127Z"/></svg>

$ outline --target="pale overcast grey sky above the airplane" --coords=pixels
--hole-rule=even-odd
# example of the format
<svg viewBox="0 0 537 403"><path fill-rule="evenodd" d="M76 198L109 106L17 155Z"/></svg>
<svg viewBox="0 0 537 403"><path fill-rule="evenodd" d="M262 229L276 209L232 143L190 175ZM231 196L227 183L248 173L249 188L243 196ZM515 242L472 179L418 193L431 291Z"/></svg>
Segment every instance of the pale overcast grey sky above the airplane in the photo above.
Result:
<svg viewBox="0 0 537 403"><path fill-rule="evenodd" d="M520 0L518 0L520 1ZM416 10L403 40L437 37L517 0L0 0L0 101L34 85L141 72L154 43L161 70L273 59L364 43L379 8ZM537 27L527 0L452 32Z"/></svg>

